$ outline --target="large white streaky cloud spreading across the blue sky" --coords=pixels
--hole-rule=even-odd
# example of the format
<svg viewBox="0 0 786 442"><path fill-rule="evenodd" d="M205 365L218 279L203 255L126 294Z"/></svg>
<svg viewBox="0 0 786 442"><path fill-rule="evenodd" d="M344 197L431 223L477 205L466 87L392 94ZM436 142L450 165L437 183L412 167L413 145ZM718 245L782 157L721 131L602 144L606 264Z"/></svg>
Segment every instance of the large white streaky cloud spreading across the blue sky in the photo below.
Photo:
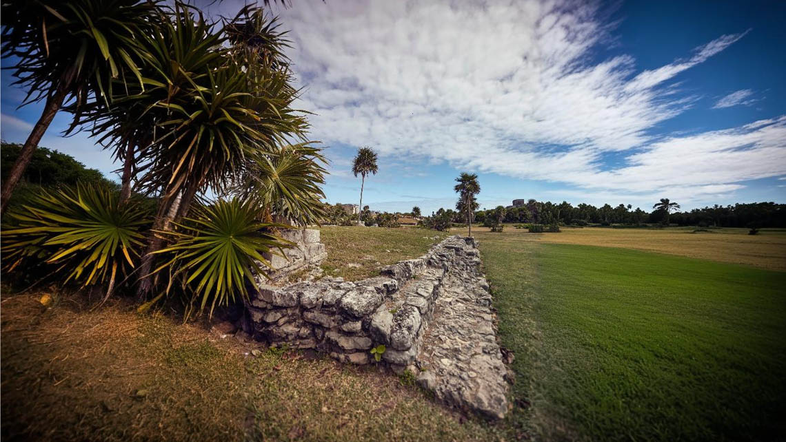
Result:
<svg viewBox="0 0 786 442"><path fill-rule="evenodd" d="M706 195L786 173L773 158L784 153L780 119L652 137L696 100L678 93L677 75L747 31L637 71L630 55L591 61L612 29L583 2L328 2L282 15L307 87L300 105L328 143L609 192ZM604 152L626 162L607 170Z"/></svg>

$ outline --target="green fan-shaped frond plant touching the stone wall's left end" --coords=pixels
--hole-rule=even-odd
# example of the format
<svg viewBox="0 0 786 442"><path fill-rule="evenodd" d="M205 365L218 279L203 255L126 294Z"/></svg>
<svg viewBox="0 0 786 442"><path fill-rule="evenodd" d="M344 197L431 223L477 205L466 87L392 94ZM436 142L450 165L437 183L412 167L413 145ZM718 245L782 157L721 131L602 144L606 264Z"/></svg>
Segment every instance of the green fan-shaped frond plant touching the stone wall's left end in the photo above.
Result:
<svg viewBox="0 0 786 442"><path fill-rule="evenodd" d="M196 206L193 217L174 223L173 231L158 232L173 243L154 252L168 259L153 273L169 269L167 292L179 280L193 294L189 305L198 302L200 313L208 303L212 315L215 305L226 305L238 296L247 300L246 283L254 285L254 276L266 275L264 267L270 267L263 254L281 254L282 247L292 246L269 232L278 225L260 222L256 215L252 201L238 198Z"/></svg>

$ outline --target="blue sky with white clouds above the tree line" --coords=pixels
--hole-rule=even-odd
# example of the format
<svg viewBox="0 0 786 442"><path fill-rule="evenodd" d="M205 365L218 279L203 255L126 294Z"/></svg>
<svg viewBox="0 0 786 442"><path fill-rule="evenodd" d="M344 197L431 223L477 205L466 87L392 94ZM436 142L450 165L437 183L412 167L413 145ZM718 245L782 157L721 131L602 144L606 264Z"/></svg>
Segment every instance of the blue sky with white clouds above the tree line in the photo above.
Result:
<svg viewBox="0 0 786 442"><path fill-rule="evenodd" d="M206 6L232 16L242 2ZM648 208L786 203L786 2L293 2L277 9L326 146L330 203L356 203L360 145L380 153L374 210L516 198ZM3 66L9 60L3 60ZM40 106L2 72L2 138ZM106 152L57 117L42 145L106 174Z"/></svg>

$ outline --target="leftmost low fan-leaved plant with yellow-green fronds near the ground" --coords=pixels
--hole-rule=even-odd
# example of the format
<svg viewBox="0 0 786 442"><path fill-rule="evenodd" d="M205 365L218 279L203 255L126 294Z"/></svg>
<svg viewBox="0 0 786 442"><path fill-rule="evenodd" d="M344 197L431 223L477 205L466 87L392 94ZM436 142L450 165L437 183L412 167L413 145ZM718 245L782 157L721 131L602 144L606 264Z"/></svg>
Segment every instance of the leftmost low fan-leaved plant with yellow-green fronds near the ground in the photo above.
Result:
<svg viewBox="0 0 786 442"><path fill-rule="evenodd" d="M101 184L77 184L42 191L18 212L9 213L13 227L2 230L3 263L12 271L27 260L42 260L65 272L65 282L85 286L107 284L112 294L119 276L137 264L151 223L150 213Z"/></svg>

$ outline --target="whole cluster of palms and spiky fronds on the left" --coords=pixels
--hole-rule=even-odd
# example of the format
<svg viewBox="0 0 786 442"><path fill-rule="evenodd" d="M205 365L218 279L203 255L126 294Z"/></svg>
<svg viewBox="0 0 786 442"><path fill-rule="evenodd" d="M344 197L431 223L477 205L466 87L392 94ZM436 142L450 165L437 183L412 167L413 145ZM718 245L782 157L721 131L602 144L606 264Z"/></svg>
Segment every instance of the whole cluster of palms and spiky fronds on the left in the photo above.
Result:
<svg viewBox="0 0 786 442"><path fill-rule="evenodd" d="M8 270L43 256L106 296L119 283L140 301L176 291L212 309L287 247L277 229L325 215L326 160L292 107L285 32L262 9L212 22L184 2L9 2L2 20L3 55L48 118L4 174L4 209L61 108L68 133L86 130L123 163L119 189L60 182L72 187L8 217Z"/></svg>

